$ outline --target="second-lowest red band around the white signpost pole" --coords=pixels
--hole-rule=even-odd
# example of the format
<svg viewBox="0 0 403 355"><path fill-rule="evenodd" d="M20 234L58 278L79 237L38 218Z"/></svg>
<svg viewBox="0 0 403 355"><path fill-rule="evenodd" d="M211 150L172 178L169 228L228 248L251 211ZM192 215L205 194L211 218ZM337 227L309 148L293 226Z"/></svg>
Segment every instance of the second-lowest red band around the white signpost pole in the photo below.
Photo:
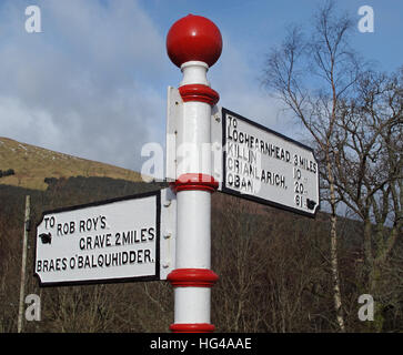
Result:
<svg viewBox="0 0 403 355"><path fill-rule="evenodd" d="M167 280L173 287L212 287L219 276L209 268L177 268Z"/></svg>

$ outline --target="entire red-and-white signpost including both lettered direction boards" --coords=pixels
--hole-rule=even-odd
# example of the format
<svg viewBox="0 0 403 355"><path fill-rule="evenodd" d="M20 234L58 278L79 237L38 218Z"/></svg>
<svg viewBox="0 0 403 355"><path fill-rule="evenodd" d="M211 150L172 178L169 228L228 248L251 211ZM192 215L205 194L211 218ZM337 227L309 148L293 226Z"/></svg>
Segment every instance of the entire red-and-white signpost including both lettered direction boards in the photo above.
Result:
<svg viewBox="0 0 403 355"><path fill-rule="evenodd" d="M167 50L183 73L179 89L168 91L171 189L44 213L34 268L41 285L168 280L170 329L213 332L211 287L219 276L210 270L211 193L314 216L319 168L310 148L216 106L206 78L222 50L213 22L180 19Z"/></svg>

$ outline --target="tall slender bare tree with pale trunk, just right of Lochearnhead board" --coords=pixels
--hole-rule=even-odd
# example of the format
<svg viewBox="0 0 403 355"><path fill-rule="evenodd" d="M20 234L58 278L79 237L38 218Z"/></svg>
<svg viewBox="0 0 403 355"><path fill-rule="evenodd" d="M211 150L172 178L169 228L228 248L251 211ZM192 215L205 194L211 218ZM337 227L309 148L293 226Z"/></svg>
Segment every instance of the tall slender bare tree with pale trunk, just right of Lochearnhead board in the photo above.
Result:
<svg viewBox="0 0 403 355"><path fill-rule="evenodd" d="M333 1L328 1L315 14L312 34L306 39L301 28L293 27L280 48L268 57L263 84L303 123L318 144L323 162L331 209L331 270L334 306L342 332L345 331L337 271L337 234L332 139L336 131L340 102L346 98L360 78L356 54L347 39L353 22L337 16Z"/></svg>

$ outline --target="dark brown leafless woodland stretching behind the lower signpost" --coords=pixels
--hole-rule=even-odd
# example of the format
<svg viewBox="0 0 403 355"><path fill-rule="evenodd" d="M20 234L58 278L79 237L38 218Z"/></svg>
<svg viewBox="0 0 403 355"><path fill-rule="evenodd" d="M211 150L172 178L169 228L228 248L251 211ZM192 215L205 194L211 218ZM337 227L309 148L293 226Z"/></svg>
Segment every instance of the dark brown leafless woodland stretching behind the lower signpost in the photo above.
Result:
<svg viewBox="0 0 403 355"><path fill-rule="evenodd" d="M48 180L47 191L0 185L0 332L17 331L24 196L32 223L42 211L135 194L164 185L103 178ZM340 275L345 326L366 332L357 318L363 224L340 219ZM329 267L329 215L315 220L216 193L212 197L212 323L219 332L337 332ZM40 322L26 332L168 332L173 292L165 282L44 287L33 277L36 229L29 234L27 294L40 295ZM402 329L402 243L387 277L396 287L384 310L383 331ZM400 251L400 252L399 252ZM393 266L400 265L399 268ZM397 285L400 285L397 287Z"/></svg>

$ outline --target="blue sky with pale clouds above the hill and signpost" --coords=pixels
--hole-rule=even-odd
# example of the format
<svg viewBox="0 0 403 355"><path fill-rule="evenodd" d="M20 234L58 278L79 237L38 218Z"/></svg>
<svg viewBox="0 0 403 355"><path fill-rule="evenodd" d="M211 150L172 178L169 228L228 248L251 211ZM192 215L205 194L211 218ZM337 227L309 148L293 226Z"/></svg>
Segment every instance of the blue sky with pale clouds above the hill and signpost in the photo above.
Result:
<svg viewBox="0 0 403 355"><path fill-rule="evenodd" d="M303 129L262 88L270 49L286 28L309 28L321 0L0 0L0 136L140 171L145 143L164 146L167 88L182 74L170 62L170 27L204 16L223 38L208 78L219 104L292 139ZM356 28L352 47L382 71L403 64L403 1L339 0L359 23L374 12L374 31ZM28 32L29 6L41 32Z"/></svg>

